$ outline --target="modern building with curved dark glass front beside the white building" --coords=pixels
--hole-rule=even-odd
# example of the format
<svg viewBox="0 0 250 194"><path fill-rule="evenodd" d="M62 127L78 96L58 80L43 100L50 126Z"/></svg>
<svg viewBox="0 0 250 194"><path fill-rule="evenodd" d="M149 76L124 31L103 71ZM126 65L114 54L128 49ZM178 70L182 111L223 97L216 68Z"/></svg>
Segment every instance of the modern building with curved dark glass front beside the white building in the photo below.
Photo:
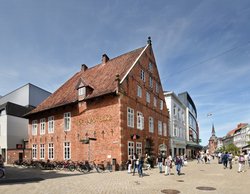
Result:
<svg viewBox="0 0 250 194"><path fill-rule="evenodd" d="M195 158L202 146L199 145L199 126L197 121L196 106L188 94L183 92L178 94L180 101L187 107L186 109L186 139L187 139L187 156L189 158Z"/></svg>

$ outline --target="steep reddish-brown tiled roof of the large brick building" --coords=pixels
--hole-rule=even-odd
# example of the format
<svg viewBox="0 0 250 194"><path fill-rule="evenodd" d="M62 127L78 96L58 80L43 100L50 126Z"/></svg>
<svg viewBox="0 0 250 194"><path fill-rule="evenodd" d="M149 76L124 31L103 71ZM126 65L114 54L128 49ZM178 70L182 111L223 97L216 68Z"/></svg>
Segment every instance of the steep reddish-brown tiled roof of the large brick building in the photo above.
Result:
<svg viewBox="0 0 250 194"><path fill-rule="evenodd" d="M119 74L120 79L123 80L147 46L110 59L106 63L101 63L92 68L77 72L26 116L77 102L77 86L82 80L84 80L84 84L93 89L93 92L85 98L86 100L116 92L116 75Z"/></svg>

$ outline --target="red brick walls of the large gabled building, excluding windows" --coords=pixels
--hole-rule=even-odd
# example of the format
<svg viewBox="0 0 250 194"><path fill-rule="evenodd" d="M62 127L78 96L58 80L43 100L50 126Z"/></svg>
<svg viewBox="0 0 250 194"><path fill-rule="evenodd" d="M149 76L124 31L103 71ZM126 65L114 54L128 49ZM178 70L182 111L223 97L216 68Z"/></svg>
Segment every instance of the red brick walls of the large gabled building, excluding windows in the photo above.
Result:
<svg viewBox="0 0 250 194"><path fill-rule="evenodd" d="M43 159L48 159L49 143L54 145L54 160L64 160L63 145L65 142L70 142L70 159L73 161L97 160L98 162L112 163L116 160L118 164L126 162L129 154L129 142L134 142L134 146L136 146L136 143L141 143L139 145L142 146L143 154L150 153L156 156L158 152L164 151L159 150L159 146L166 147L166 150L169 150L169 116L151 45L147 45L139 54L140 56L135 61L130 62L130 69L126 71L125 76L119 74L116 75L115 80L111 80L112 84L117 86L116 92L85 100L78 99L78 101L62 106L39 110L28 116L29 148L32 148L34 144L37 145L36 159L41 159L41 144L44 144L45 147ZM116 60L123 59L122 57L123 55ZM149 68L149 63L151 63L152 69ZM105 68L108 63L102 65ZM122 64L120 65L122 66ZM141 79L142 70L145 80ZM85 68L84 71L87 72L88 70ZM123 72L123 75L125 73ZM149 77L151 77L153 85L150 85ZM101 85L101 78L98 79L100 79ZM105 79L110 78L105 77ZM70 81L72 79L68 82ZM77 83L74 84L77 85ZM138 86L142 88L141 97L137 96ZM150 102L146 101L146 92L150 94ZM61 97L63 98L63 94ZM154 105L154 98L157 100L156 106ZM162 104L160 103L161 100ZM134 111L134 127L128 127L127 124L128 108ZM71 127L69 131L64 131L64 113L67 112L71 114ZM143 129L137 129L138 112L143 115ZM49 134L48 117L50 116L54 117L54 133ZM149 132L149 117L154 120L153 132ZM40 134L40 119L42 118L46 119L46 130L43 135ZM32 135L32 122L34 120L38 122L37 135ZM162 131L165 130L165 134L164 132L158 134L158 121L161 121ZM96 140L90 140L89 144L83 144L81 140L87 138L96 138ZM136 151L136 147L134 147L134 151Z"/></svg>

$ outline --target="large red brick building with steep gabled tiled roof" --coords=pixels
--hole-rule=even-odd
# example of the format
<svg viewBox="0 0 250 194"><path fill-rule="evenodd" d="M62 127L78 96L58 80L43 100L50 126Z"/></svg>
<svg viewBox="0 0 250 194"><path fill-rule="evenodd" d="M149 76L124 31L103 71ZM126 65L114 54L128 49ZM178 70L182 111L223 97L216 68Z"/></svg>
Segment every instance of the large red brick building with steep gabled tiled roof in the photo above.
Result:
<svg viewBox="0 0 250 194"><path fill-rule="evenodd" d="M33 159L116 160L169 151L169 114L151 40L82 68L31 111ZM85 144L89 143L89 144Z"/></svg>

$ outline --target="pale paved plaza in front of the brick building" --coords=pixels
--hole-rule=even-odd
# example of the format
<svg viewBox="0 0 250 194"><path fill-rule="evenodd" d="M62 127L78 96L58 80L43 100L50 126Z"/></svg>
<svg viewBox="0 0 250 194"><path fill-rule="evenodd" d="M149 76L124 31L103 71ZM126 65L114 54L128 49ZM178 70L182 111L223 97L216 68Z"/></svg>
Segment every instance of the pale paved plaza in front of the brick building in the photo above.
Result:
<svg viewBox="0 0 250 194"><path fill-rule="evenodd" d="M5 179L0 179L0 194L249 194L250 168L246 172L223 169L217 160L211 164L189 161L178 176L158 169L144 171L144 177L126 171L88 173L24 169L7 166Z"/></svg>

